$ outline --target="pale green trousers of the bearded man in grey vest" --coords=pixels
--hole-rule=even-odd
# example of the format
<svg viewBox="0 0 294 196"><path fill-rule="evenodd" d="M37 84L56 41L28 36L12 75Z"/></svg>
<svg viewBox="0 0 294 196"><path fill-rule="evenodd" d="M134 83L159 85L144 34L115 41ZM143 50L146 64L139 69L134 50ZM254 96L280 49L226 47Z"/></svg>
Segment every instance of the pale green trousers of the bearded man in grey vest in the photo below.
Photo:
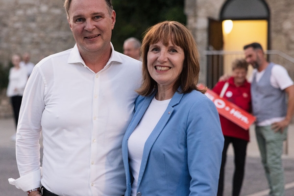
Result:
<svg viewBox="0 0 294 196"><path fill-rule="evenodd" d="M255 127L261 161L270 186L270 196L285 196L282 153L287 130L288 127L284 129L283 133L275 133L270 126Z"/></svg>

